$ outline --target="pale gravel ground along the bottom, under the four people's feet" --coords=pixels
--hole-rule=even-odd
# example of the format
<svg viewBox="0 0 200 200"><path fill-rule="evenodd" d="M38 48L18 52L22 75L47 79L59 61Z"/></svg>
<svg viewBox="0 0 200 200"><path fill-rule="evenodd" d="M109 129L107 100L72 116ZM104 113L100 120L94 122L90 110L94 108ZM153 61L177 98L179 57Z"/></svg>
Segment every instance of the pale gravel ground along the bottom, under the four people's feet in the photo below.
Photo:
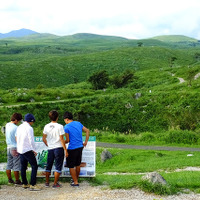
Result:
<svg viewBox="0 0 200 200"><path fill-rule="evenodd" d="M1 200L198 200L200 194L180 194L172 196L158 196L148 194L138 189L110 190L105 186L92 187L82 182L79 188L72 188L69 183L63 183L60 189L43 187L41 191L29 191L21 187L1 186ZM43 186L40 184L40 186Z"/></svg>

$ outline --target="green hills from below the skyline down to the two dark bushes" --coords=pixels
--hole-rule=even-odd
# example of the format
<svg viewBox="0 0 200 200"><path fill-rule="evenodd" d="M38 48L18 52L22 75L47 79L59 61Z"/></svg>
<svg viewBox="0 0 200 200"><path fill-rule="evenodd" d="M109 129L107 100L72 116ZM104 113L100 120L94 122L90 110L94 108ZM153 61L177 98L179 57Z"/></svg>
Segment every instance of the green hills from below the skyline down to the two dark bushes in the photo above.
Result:
<svg viewBox="0 0 200 200"><path fill-rule="evenodd" d="M0 88L35 88L38 84L58 87L85 81L93 72L103 69L110 74L133 69L140 76L141 70L149 73L156 68L165 70L174 65L182 68L197 62L197 40L182 36L165 36L162 40L128 40L92 34L65 37L36 34L1 39ZM142 47L138 47L139 42ZM185 46L178 46L180 42ZM196 46L191 47L190 42ZM176 57L174 63L172 57Z"/></svg>

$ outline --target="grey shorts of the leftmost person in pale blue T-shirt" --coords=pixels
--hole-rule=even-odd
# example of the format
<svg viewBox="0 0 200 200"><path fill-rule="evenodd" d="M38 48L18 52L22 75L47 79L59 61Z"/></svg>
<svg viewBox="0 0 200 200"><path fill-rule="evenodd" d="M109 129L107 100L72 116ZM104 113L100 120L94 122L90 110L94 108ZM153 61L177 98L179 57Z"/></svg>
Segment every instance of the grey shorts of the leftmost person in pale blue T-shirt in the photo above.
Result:
<svg viewBox="0 0 200 200"><path fill-rule="evenodd" d="M17 148L11 147L7 148L7 170L14 170L20 171L21 163L20 163L20 156L17 152Z"/></svg>

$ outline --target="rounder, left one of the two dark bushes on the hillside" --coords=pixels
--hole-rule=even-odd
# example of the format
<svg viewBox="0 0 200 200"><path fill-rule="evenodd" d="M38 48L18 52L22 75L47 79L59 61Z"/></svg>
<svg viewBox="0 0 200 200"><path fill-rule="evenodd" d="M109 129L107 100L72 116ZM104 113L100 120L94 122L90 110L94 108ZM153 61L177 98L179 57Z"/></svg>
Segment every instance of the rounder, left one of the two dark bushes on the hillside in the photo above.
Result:
<svg viewBox="0 0 200 200"><path fill-rule="evenodd" d="M107 87L109 76L106 70L95 72L92 74L88 81L92 84L95 90L104 89Z"/></svg>

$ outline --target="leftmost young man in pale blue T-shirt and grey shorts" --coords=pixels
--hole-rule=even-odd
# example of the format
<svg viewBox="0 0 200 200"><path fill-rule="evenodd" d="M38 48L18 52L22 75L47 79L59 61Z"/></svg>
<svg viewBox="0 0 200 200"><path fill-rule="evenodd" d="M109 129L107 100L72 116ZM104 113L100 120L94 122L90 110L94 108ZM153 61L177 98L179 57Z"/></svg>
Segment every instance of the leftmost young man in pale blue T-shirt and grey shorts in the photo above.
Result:
<svg viewBox="0 0 200 200"><path fill-rule="evenodd" d="M16 131L17 124L22 120L20 113L14 113L11 117L11 122L6 124L6 144L7 144L7 168L6 174L8 183L21 185L19 179L20 157L17 152ZM12 179L11 170L14 170L15 182Z"/></svg>

